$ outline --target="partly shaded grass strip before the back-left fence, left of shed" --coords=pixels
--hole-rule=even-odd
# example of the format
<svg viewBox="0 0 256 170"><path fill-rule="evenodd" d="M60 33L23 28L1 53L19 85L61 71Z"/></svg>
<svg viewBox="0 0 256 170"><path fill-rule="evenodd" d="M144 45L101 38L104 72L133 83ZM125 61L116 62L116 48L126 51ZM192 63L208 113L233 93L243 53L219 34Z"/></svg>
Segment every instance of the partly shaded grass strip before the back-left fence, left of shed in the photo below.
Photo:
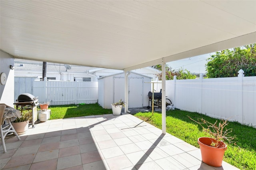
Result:
<svg viewBox="0 0 256 170"><path fill-rule="evenodd" d="M103 115L112 113L112 109L103 109L98 103L85 105L58 105L50 106L50 119L63 119L89 115Z"/></svg>

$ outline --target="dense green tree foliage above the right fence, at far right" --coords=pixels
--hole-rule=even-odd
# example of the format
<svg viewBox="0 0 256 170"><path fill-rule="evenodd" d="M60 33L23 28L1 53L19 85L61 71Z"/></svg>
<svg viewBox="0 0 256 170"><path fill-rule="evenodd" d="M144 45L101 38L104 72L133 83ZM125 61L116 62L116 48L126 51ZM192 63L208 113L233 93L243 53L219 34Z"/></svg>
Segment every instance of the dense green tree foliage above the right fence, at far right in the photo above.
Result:
<svg viewBox="0 0 256 170"><path fill-rule="evenodd" d="M237 77L240 69L244 76L256 76L256 43L218 51L207 61L208 78Z"/></svg>

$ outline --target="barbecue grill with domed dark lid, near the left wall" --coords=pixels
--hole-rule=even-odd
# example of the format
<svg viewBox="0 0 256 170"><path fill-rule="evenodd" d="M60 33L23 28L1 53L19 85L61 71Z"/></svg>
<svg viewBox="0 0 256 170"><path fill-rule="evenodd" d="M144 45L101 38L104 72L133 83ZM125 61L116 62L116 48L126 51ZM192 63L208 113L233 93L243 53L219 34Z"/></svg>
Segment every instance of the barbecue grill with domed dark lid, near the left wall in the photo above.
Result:
<svg viewBox="0 0 256 170"><path fill-rule="evenodd" d="M34 128L34 123L37 121L36 107L39 105L37 97L30 93L22 93L18 96L16 103L13 104L16 105L16 109L20 110L21 113L24 110L32 110L32 128Z"/></svg>

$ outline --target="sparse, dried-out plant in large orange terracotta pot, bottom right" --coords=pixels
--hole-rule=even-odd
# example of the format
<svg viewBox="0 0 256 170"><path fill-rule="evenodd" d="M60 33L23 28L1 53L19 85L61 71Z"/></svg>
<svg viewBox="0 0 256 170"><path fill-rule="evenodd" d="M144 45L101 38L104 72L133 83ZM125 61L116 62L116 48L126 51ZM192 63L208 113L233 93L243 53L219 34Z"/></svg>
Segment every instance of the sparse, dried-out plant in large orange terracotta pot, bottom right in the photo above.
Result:
<svg viewBox="0 0 256 170"><path fill-rule="evenodd" d="M192 118L190 119L195 121ZM227 144L224 142L235 144L233 140L236 137L235 135L230 135L230 132L232 132L231 128L226 128L228 125L228 119L221 119L219 123L218 120L216 120L215 123L210 123L201 118L195 122L203 128L203 131L207 134L207 136L210 136L200 137L197 140L201 150L202 161L210 166L222 166L223 156L227 150Z"/></svg>

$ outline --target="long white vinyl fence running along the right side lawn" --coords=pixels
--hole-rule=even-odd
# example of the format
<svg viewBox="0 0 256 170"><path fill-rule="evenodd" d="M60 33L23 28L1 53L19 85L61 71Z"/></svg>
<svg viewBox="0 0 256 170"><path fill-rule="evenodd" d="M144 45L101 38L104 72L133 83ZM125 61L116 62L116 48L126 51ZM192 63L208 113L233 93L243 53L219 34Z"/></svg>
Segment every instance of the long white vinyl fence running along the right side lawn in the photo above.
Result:
<svg viewBox="0 0 256 170"><path fill-rule="evenodd" d="M168 80L166 96L178 109L256 126L256 77Z"/></svg>

